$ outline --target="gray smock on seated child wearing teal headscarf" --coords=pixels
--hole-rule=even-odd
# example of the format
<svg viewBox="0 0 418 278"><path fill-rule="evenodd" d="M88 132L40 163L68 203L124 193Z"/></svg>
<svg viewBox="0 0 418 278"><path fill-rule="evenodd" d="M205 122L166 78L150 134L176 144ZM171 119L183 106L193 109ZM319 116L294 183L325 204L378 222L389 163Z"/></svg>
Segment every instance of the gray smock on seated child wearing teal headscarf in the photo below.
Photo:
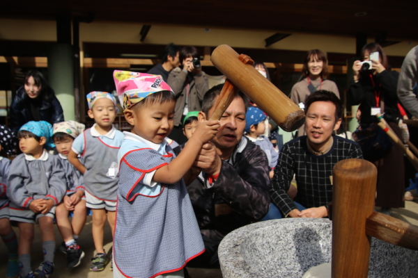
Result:
<svg viewBox="0 0 418 278"><path fill-rule="evenodd" d="M33 157L33 156L32 156ZM59 158L45 152L42 159L13 159L7 179L10 207L29 208L33 199L52 199L59 204L65 195L65 173Z"/></svg>

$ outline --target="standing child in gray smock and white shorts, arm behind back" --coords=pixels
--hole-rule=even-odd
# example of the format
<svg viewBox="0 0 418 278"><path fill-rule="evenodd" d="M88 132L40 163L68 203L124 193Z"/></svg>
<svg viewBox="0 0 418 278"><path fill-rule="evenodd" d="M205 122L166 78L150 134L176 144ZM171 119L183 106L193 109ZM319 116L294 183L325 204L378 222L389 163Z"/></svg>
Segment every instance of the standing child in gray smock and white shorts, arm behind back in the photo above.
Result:
<svg viewBox="0 0 418 278"><path fill-rule="evenodd" d="M87 95L88 117L94 119L91 129L86 129L72 142L68 161L84 175L86 206L93 212L92 234L96 250L91 271L102 271L107 264L103 248L104 224L114 231L116 191L118 190L118 150L123 133L113 126L116 118L116 99L109 92L91 92ZM81 163L77 158L82 156Z"/></svg>

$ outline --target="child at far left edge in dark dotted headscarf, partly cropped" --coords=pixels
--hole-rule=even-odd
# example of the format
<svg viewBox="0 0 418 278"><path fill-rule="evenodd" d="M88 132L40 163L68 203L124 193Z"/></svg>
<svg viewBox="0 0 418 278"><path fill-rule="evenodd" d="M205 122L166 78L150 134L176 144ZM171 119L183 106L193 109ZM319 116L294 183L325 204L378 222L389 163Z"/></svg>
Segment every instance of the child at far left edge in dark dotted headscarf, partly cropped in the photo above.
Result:
<svg viewBox="0 0 418 278"><path fill-rule="evenodd" d="M8 250L8 265L6 277L19 275L19 260L17 259L17 237L10 225L9 200L6 195L7 177L11 161L3 154L15 154L16 138L7 126L0 125L0 236Z"/></svg>

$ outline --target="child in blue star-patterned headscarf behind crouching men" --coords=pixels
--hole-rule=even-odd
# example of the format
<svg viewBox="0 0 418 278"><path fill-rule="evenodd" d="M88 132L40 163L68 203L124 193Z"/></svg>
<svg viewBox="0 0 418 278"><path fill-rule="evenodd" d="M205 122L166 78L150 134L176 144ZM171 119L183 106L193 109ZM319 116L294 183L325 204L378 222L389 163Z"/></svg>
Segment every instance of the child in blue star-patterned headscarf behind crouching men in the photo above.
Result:
<svg viewBox="0 0 418 278"><path fill-rule="evenodd" d="M272 142L268 140L263 134L265 133L265 118L267 116L256 107L249 107L247 114L245 114L245 132L247 138L254 142L254 144L260 146L265 152L268 158L268 164L270 165L270 179L274 176L274 167L277 165L279 154L274 150Z"/></svg>

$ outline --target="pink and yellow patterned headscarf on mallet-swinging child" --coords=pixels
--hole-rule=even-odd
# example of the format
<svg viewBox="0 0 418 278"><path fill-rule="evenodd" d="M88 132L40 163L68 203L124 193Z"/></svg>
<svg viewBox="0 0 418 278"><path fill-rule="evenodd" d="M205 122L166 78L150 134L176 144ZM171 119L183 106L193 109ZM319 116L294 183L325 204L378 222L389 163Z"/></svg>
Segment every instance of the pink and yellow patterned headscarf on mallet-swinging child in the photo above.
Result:
<svg viewBox="0 0 418 278"><path fill-rule="evenodd" d="M173 93L170 86L159 75L115 70L114 81L123 110L131 108L155 92Z"/></svg>

